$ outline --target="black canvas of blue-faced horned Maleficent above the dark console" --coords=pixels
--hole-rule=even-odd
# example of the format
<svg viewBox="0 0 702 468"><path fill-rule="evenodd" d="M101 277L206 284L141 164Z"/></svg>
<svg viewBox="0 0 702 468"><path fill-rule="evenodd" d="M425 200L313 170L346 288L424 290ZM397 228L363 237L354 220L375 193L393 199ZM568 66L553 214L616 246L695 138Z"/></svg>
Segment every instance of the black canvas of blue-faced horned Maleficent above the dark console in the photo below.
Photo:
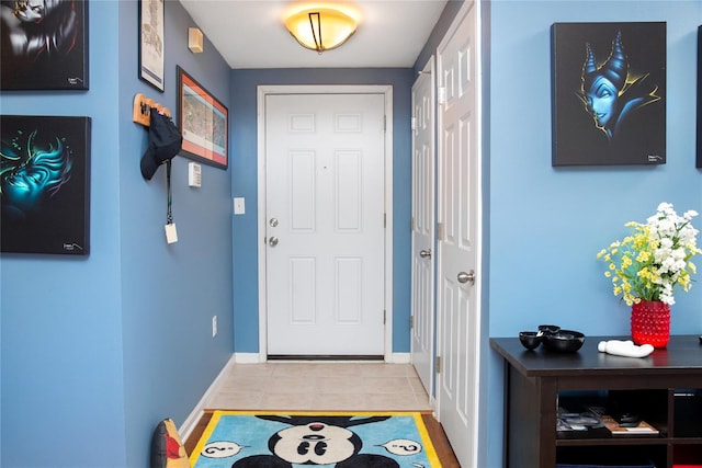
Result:
<svg viewBox="0 0 702 468"><path fill-rule="evenodd" d="M666 162L666 23L554 23L552 165Z"/></svg>

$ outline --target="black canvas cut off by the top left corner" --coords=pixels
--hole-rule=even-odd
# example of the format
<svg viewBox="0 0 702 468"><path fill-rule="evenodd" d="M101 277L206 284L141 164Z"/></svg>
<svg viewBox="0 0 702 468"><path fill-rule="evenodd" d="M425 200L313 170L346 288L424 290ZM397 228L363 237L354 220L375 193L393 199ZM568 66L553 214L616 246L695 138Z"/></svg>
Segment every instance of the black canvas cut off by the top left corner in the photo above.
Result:
<svg viewBox="0 0 702 468"><path fill-rule="evenodd" d="M0 22L1 90L88 89L87 0L2 1Z"/></svg>

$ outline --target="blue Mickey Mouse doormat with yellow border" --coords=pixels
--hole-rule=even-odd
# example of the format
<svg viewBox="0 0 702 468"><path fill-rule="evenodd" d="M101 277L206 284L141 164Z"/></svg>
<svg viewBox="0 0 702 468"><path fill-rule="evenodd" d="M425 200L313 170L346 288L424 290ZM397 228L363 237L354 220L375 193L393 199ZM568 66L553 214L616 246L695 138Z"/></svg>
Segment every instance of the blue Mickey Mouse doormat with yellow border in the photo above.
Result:
<svg viewBox="0 0 702 468"><path fill-rule="evenodd" d="M215 411L193 468L438 468L418 412Z"/></svg>

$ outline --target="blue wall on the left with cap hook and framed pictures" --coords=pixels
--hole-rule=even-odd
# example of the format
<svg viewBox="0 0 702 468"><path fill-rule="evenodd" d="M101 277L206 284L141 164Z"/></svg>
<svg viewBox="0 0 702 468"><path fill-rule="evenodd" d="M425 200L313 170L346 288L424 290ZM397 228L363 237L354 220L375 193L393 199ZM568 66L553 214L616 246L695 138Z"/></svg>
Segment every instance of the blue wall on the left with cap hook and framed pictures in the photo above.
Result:
<svg viewBox="0 0 702 468"><path fill-rule="evenodd" d="M137 78L137 5L92 1L90 90L4 92L3 114L92 117L91 253L0 258L3 467L146 467L158 421L178 425L234 349L230 170L173 160L179 241L167 244L165 169L139 171L136 93L176 104L176 64L223 102L229 68L186 47L190 16L166 3L166 92ZM212 338L212 316L218 335Z"/></svg>

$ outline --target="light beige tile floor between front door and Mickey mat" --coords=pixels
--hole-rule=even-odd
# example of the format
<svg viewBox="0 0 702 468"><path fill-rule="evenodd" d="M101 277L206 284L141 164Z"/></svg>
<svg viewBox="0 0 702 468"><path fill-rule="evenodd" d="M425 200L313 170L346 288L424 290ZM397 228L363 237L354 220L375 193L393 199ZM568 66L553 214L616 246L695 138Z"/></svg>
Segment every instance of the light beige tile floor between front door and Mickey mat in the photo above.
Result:
<svg viewBox="0 0 702 468"><path fill-rule="evenodd" d="M208 409L430 411L411 364L235 364Z"/></svg>

